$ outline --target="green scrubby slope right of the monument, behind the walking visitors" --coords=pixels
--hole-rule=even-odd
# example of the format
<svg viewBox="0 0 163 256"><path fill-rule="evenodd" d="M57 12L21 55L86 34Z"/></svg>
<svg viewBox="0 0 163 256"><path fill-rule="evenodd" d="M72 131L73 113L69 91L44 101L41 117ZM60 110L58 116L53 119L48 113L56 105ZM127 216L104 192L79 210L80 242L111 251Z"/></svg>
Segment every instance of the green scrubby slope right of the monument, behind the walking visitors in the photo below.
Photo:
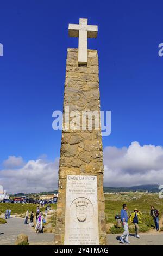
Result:
<svg viewBox="0 0 163 256"><path fill-rule="evenodd" d="M154 205L159 211L160 216L163 213L163 199L158 197L155 193L141 193L141 192L123 192L116 194L105 194L105 213L106 223L113 223L114 227L111 227L109 233L118 234L123 232L123 228L116 228L115 215L119 214L122 209L122 204L127 204L128 214L135 208L142 212L142 224L140 226L140 232L147 232L154 228L153 218L150 216L151 205ZM129 224L129 232L134 233L134 226Z"/></svg>

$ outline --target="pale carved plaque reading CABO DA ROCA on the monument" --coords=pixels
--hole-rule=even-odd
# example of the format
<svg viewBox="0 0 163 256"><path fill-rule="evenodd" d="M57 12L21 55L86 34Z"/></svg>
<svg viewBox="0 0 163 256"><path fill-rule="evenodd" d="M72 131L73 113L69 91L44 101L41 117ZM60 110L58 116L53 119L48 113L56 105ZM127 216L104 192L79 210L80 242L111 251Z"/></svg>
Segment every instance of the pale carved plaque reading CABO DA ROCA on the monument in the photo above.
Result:
<svg viewBox="0 0 163 256"><path fill-rule="evenodd" d="M67 175L65 245L99 245L97 176Z"/></svg>

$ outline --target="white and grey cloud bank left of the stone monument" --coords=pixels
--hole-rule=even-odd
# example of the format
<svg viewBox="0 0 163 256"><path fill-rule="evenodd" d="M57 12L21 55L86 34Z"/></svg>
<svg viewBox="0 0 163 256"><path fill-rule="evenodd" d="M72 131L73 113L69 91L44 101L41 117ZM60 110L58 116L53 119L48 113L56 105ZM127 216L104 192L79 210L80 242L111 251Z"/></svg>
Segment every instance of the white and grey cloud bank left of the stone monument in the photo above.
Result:
<svg viewBox="0 0 163 256"><path fill-rule="evenodd" d="M0 171L0 184L8 193L42 192L58 188L58 163L37 159L29 160L21 168Z"/></svg>

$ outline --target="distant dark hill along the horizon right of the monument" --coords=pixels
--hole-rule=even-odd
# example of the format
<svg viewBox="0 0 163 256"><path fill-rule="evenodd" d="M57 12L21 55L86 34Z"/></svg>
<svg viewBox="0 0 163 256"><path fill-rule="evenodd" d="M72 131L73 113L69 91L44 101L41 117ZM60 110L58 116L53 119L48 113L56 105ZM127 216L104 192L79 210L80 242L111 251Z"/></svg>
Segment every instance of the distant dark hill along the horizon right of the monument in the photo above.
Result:
<svg viewBox="0 0 163 256"><path fill-rule="evenodd" d="M139 192L159 192L159 185L140 185L133 187L104 187L104 192L129 192L129 191L139 191Z"/></svg>

